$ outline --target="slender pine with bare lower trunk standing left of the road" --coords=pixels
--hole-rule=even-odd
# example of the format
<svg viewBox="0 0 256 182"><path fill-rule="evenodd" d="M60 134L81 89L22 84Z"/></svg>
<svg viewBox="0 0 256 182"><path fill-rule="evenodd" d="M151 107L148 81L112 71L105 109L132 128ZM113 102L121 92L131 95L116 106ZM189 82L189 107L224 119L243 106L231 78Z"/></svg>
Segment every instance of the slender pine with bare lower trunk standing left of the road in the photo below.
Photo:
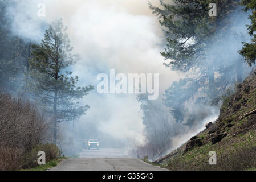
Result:
<svg viewBox="0 0 256 182"><path fill-rule="evenodd" d="M88 105L80 106L78 99L93 87L77 87L78 77L72 77L68 67L79 60L71 53L72 47L62 19L55 20L44 34L40 45L33 44L29 60L28 87L36 98L47 106L54 117L54 141L59 122L74 120L85 114Z"/></svg>

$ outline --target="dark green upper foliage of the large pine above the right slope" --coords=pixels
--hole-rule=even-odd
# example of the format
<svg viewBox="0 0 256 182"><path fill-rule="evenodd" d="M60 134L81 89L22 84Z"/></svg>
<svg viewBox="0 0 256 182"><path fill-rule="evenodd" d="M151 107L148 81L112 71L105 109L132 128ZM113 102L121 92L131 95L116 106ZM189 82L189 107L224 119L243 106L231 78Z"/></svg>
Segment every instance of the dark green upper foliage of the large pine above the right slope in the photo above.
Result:
<svg viewBox="0 0 256 182"><path fill-rule="evenodd" d="M150 8L159 16L160 24L166 30L167 47L161 55L171 61L165 65L189 71L192 67L206 64L205 53L218 30L225 28L227 22L224 23L224 18L237 7L237 3L232 0L177 0L174 5L160 2L162 9L151 4ZM213 2L217 4L218 16L210 18L208 5Z"/></svg>

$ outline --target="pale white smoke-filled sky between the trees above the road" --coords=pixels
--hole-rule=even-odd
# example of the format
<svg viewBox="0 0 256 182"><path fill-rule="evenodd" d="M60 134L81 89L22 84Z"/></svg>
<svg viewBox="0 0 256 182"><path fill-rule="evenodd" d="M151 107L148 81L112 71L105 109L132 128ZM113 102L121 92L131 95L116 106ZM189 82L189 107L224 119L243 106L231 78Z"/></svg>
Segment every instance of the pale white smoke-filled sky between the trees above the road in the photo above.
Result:
<svg viewBox="0 0 256 182"><path fill-rule="evenodd" d="M45 17L38 17L38 3L45 3ZM151 3L157 6L159 1ZM10 16L14 34L35 42L43 39L45 26L55 19L62 18L68 26L73 53L82 57L71 69L79 86L95 86L81 101L91 108L76 121L79 127L94 122L100 132L120 139L143 132L136 94L97 93L100 73L109 74L111 68L125 75L159 73L159 99L180 78L163 65L164 37L147 0L24 0L10 9Z"/></svg>

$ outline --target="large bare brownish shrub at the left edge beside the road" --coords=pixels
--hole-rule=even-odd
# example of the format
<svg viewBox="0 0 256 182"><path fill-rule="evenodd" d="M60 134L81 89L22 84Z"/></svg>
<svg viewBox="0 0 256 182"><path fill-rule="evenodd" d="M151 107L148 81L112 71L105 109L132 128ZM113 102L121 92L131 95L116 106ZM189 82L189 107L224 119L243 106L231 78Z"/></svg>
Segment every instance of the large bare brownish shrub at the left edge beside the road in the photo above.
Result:
<svg viewBox="0 0 256 182"><path fill-rule="evenodd" d="M15 170L48 139L51 122L31 102L0 93L0 126L0 169Z"/></svg>

